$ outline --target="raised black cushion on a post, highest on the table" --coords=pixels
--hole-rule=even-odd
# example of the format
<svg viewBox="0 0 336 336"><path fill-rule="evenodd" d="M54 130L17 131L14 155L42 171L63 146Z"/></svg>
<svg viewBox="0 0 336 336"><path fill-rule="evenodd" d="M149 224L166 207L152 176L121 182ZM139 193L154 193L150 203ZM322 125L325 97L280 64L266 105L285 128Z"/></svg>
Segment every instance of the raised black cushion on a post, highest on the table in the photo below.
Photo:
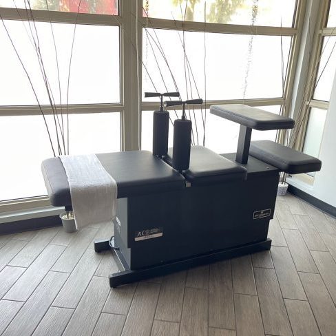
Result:
<svg viewBox="0 0 336 336"><path fill-rule="evenodd" d="M291 118L243 104L211 105L210 113L260 131L290 129L295 125Z"/></svg>

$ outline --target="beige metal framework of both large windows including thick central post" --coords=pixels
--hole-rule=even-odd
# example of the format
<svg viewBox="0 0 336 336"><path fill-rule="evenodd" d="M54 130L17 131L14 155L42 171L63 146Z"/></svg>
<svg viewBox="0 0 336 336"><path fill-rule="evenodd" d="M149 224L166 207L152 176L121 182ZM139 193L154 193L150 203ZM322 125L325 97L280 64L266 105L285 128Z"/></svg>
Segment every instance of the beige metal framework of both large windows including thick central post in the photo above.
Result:
<svg viewBox="0 0 336 336"><path fill-rule="evenodd" d="M292 46L288 61L288 72L286 78L285 95L280 98L258 98L244 99L244 103L251 106L282 105L291 101L292 87L295 76L295 68L300 48L300 38L306 0L297 0L293 28L231 25L222 23L207 23L205 32L219 34L256 34L269 36L292 36ZM3 19L21 20L28 19L25 10L15 8L0 8ZM120 27L120 103L69 106L70 114L120 112L121 144L122 150L138 149L141 135L141 112L155 109L158 104L141 102L138 97L138 90L141 94L141 56L143 41L143 26L149 28L161 28L176 30L176 26L182 30L204 33L204 23L184 22L165 19L143 18L142 0L119 0L119 13L117 16L101 14L77 14L69 12L48 12L45 10L32 10L35 21L55 23L75 23L87 25L116 25ZM137 13L137 15L136 15ZM138 18L138 21L137 19ZM31 18L29 18L31 19ZM148 25L147 23L150 24ZM140 59L136 54L134 45L138 43ZM140 81L138 85L138 79ZM140 103L139 103L140 101ZM203 107L218 103L243 103L242 99L226 101L207 101ZM43 106L46 114L51 114L48 106ZM289 109L286 109L289 113ZM0 116L21 116L36 115L39 109L36 106L0 106ZM48 198L44 196L17 199L0 202L0 213L6 211L17 211L31 207L45 207L48 205Z"/></svg>

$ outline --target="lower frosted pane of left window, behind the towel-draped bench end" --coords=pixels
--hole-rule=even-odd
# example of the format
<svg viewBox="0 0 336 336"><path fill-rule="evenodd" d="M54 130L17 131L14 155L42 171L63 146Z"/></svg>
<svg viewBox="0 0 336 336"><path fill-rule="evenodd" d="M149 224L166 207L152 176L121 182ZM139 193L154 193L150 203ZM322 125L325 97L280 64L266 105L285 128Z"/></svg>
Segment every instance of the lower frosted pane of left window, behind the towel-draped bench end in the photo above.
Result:
<svg viewBox="0 0 336 336"><path fill-rule="evenodd" d="M69 118L71 154L120 151L119 113ZM46 119L54 133L53 116ZM0 200L46 195L41 162L52 157L52 151L42 116L0 116L0 143Z"/></svg>

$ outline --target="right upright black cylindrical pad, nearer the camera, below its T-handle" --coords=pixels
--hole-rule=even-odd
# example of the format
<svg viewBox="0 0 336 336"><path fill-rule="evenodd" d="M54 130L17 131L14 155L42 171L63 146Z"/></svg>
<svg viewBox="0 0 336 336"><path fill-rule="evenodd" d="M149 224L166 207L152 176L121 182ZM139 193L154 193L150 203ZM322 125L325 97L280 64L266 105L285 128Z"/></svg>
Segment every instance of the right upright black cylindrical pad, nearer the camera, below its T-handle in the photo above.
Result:
<svg viewBox="0 0 336 336"><path fill-rule="evenodd" d="M177 119L174 122L172 166L178 171L189 168L191 147L191 120Z"/></svg>

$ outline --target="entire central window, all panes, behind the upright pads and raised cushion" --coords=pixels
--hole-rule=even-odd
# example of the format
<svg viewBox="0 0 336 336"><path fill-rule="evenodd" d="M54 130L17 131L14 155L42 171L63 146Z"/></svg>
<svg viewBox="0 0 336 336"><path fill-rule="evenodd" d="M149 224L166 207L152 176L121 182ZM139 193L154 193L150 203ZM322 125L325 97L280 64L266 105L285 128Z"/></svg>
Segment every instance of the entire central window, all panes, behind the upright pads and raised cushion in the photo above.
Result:
<svg viewBox="0 0 336 336"><path fill-rule="evenodd" d="M178 91L182 100L203 98L207 107L228 101L255 106L258 104L253 101L258 99L263 105L273 103L269 109L280 113L279 104L286 101L287 70L293 52L290 28L295 5L296 1L277 0L144 0L143 96L144 92ZM176 20L194 23L181 29ZM207 23L231 25L221 25L222 30L211 25L213 30L208 31ZM286 34L282 34L284 27ZM143 149L152 145L152 112L147 111L153 101L143 98ZM202 112L205 115L204 108ZM204 143L218 153L235 151L239 125L209 113L205 122L200 109L187 116L193 122L193 144ZM175 118L173 111L171 120ZM266 138L275 140L276 132L253 132L253 140Z"/></svg>

